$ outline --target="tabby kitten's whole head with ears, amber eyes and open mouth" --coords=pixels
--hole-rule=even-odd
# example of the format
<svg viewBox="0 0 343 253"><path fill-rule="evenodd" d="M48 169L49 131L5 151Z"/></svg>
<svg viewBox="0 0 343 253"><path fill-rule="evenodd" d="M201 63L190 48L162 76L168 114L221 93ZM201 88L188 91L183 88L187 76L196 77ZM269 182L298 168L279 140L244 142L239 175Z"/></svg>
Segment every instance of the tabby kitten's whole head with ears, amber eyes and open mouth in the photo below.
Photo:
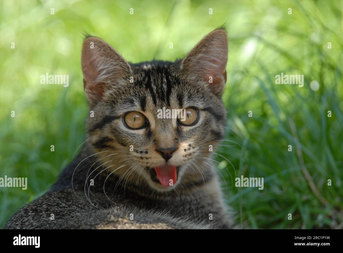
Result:
<svg viewBox="0 0 343 253"><path fill-rule="evenodd" d="M87 130L102 168L158 191L209 180L209 145L221 139L226 121L227 47L226 32L216 29L182 60L129 64L87 37L82 70L94 111Z"/></svg>

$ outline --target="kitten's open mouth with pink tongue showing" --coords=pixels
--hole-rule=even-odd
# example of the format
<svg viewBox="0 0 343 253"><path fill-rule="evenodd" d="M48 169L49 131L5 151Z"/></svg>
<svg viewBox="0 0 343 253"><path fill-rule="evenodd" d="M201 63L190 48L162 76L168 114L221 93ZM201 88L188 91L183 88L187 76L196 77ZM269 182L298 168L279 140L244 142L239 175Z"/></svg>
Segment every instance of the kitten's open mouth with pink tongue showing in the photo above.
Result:
<svg viewBox="0 0 343 253"><path fill-rule="evenodd" d="M151 180L155 183L162 184L163 186L174 185L179 175L179 166L163 165L155 168L148 168Z"/></svg>

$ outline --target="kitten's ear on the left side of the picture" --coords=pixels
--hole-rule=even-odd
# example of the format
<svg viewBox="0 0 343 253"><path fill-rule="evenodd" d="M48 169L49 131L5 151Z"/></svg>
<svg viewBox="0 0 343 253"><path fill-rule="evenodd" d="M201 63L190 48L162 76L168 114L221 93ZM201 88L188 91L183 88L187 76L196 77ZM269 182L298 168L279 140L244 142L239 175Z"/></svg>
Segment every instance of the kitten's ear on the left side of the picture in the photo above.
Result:
<svg viewBox="0 0 343 253"><path fill-rule="evenodd" d="M81 65L83 87L90 106L122 79L131 75L129 63L104 40L87 37L83 41Z"/></svg>

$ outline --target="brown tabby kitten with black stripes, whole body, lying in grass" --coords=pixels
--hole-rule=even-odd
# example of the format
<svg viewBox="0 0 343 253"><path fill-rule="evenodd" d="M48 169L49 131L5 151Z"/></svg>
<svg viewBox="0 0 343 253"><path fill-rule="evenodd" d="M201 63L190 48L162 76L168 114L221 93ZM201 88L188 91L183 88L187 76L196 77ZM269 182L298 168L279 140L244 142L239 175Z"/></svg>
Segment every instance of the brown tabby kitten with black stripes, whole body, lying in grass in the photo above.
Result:
<svg viewBox="0 0 343 253"><path fill-rule="evenodd" d="M175 62L128 63L86 36L85 146L4 228L232 228L209 151L224 135L227 56L224 28ZM164 107L186 117L157 117Z"/></svg>

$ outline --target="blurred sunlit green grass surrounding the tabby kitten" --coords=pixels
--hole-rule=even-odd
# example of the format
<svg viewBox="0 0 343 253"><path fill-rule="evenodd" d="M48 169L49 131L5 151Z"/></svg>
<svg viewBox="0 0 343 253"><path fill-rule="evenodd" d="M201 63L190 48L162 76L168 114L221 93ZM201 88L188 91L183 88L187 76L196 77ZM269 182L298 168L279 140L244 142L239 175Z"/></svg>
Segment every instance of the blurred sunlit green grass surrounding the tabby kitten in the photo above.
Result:
<svg viewBox="0 0 343 253"><path fill-rule="evenodd" d="M0 177L28 178L27 190L0 188L0 227L49 188L84 141L88 108L80 67L83 32L105 39L131 62L175 60L227 22L226 139L240 146L220 146L216 152L232 165L220 155L215 157L238 224L343 228L341 1L5 0L0 4ZM46 72L68 74L69 87L40 84L40 75ZM303 74L304 87L275 84L275 75L281 72ZM319 82L318 91L310 88L314 80ZM50 152L52 144L55 152ZM324 202L310 188L304 167ZM235 174L264 177L264 189L236 188L231 179Z"/></svg>

